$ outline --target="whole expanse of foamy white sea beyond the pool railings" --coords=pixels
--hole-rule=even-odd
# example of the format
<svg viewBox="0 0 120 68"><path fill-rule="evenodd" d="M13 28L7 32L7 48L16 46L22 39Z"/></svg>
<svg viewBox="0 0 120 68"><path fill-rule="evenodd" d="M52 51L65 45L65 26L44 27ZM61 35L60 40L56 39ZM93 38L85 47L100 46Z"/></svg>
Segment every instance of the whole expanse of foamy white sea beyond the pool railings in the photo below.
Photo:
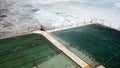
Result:
<svg viewBox="0 0 120 68"><path fill-rule="evenodd" d="M112 23L113 28L120 25L120 0L0 0L1 9L8 11L0 12L7 15L0 21L0 34L40 24L48 28L76 25L91 19L99 23L104 20L105 25ZM3 27L8 23L11 26Z"/></svg>

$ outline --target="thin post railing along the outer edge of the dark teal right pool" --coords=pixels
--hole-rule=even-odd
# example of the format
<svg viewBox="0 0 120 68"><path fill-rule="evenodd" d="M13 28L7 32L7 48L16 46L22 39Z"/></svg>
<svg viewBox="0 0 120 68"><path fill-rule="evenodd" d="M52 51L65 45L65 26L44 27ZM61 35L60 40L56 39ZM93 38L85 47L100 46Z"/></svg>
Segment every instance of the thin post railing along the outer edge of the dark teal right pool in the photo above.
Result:
<svg viewBox="0 0 120 68"><path fill-rule="evenodd" d="M110 23L110 22L106 22L105 20L98 20L98 19L91 19L91 21L84 21L84 22L74 22L74 23L71 23L71 24L61 24L59 26L53 26L51 28L47 28L47 30L55 30L55 29L64 29L66 27L69 27L69 28L72 28L72 27L77 27L77 26L81 26L81 25L85 25L85 24L92 24L92 23L98 23L98 24L102 24L102 25L105 25L105 26L108 26L110 28L113 28L113 29L116 29L116 30L120 30L120 25L117 25L117 27L114 27L113 24L116 24L116 23Z"/></svg>

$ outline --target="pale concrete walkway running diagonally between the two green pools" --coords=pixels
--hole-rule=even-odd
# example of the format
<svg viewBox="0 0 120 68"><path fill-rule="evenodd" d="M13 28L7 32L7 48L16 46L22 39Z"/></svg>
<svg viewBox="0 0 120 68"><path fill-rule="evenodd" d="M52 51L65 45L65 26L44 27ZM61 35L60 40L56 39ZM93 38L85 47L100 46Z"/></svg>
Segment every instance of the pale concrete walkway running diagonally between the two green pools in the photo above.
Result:
<svg viewBox="0 0 120 68"><path fill-rule="evenodd" d="M47 32L44 31L34 31L33 33L42 34L44 37L46 37L51 43L53 43L58 49L60 49L62 52L64 52L69 58L71 58L74 62L76 62L80 67L82 68L92 68L90 67L86 62L81 60L79 57L77 57L74 53L69 51L64 45L59 43L56 39L54 39L51 35L49 35Z"/></svg>

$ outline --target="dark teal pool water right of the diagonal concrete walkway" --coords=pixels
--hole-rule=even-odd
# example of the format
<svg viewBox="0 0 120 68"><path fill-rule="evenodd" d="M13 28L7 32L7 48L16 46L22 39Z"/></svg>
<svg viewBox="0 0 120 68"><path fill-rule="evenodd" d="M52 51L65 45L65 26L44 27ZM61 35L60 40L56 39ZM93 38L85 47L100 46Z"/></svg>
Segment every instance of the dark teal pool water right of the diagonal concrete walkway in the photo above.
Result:
<svg viewBox="0 0 120 68"><path fill-rule="evenodd" d="M50 34L92 67L120 67L120 31L92 24Z"/></svg>

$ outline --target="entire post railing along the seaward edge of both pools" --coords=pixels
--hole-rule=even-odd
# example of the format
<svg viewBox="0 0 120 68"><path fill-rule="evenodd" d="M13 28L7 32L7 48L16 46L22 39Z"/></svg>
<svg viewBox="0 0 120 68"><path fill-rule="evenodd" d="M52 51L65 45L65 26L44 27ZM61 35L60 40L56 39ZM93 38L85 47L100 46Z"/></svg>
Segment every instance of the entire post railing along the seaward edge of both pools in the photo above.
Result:
<svg viewBox="0 0 120 68"><path fill-rule="evenodd" d="M120 25L118 25L118 28L114 28L112 26L113 23L108 24L108 22L105 22L105 20L97 20L97 19L95 19L95 20L91 19L91 21L84 21L84 22L74 22L74 23L67 24L67 25L63 23L59 26L51 26L51 27L45 27L45 28L46 28L47 31L49 31L49 30L55 30L55 29L64 29L64 28L67 28L67 27L68 28L73 28L73 27L78 27L78 26L85 25L85 24L90 24L90 23L99 23L99 24L102 24L102 25L105 25L105 26L108 26L110 28L113 28L113 29L116 29L116 30L120 31ZM10 33L1 34L0 39L14 37L14 36L20 36L20 35L24 35L24 34L30 34L33 31L40 30L40 29L41 29L41 27L32 27L32 28L27 28L27 29L16 29L14 31L13 30L9 31Z"/></svg>

